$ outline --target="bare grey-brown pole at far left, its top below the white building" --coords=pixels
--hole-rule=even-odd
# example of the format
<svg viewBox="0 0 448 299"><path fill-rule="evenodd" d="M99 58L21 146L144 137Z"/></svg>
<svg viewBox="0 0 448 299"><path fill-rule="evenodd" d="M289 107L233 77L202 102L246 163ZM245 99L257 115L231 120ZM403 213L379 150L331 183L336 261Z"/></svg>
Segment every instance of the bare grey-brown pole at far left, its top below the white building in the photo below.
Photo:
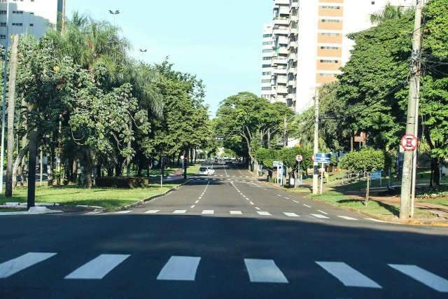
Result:
<svg viewBox="0 0 448 299"><path fill-rule="evenodd" d="M8 90L8 144L6 159L6 188L5 196L13 196L13 162L14 162L14 113L15 113L15 79L17 77L17 53L19 35L14 34L11 44L11 57L9 67L9 90ZM3 167L3 165L1 165Z"/></svg>

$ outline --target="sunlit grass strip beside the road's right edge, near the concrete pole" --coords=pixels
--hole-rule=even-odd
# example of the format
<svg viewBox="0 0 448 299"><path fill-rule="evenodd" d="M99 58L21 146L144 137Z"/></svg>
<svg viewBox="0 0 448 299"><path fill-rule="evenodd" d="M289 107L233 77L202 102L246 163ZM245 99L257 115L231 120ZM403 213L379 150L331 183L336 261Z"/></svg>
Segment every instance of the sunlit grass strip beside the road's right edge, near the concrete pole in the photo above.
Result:
<svg viewBox="0 0 448 299"><path fill-rule="evenodd" d="M351 199L336 191L328 191L323 193L323 195L309 195L309 197L314 200L320 200L322 202L332 204L336 207L355 209L356 211L371 214L373 216L379 216L381 218L396 218L400 214L400 209L393 205L370 200L366 206L363 204L362 200ZM427 213L426 211L415 209L415 217L431 218L433 215Z"/></svg>

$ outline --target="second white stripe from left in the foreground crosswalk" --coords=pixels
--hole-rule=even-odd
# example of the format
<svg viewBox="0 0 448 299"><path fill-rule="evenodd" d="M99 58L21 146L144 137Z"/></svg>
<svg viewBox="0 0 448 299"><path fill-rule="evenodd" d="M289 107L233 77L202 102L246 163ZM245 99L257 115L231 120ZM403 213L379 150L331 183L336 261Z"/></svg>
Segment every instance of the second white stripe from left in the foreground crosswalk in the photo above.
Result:
<svg viewBox="0 0 448 299"><path fill-rule="evenodd" d="M65 279L102 279L129 257L129 254L102 254L85 265L78 267L78 269L68 274Z"/></svg>

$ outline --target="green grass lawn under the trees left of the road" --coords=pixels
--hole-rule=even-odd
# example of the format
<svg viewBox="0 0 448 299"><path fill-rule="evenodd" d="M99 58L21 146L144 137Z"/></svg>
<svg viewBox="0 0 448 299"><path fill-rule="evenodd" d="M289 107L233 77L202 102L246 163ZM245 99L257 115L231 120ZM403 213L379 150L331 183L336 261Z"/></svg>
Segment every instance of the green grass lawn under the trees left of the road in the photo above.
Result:
<svg viewBox="0 0 448 299"><path fill-rule="evenodd" d="M78 186L57 186L39 187L36 186L36 202L59 203L68 206L89 205L104 207L108 210L117 209L144 200L153 195L164 193L165 191L178 186L182 181L160 185L153 184L148 188L133 189L113 189L113 188L92 188L85 189ZM13 197L8 198L8 202L27 202L27 188L17 188ZM6 202L5 196L0 195L0 204Z"/></svg>

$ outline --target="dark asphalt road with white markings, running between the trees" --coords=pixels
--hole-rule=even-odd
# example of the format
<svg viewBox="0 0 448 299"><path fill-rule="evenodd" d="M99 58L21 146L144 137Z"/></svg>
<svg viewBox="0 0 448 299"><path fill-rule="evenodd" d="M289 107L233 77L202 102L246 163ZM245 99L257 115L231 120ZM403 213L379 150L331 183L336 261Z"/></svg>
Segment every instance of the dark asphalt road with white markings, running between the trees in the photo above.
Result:
<svg viewBox="0 0 448 299"><path fill-rule="evenodd" d="M216 170L130 211L0 216L0 298L448 298L447 229Z"/></svg>

